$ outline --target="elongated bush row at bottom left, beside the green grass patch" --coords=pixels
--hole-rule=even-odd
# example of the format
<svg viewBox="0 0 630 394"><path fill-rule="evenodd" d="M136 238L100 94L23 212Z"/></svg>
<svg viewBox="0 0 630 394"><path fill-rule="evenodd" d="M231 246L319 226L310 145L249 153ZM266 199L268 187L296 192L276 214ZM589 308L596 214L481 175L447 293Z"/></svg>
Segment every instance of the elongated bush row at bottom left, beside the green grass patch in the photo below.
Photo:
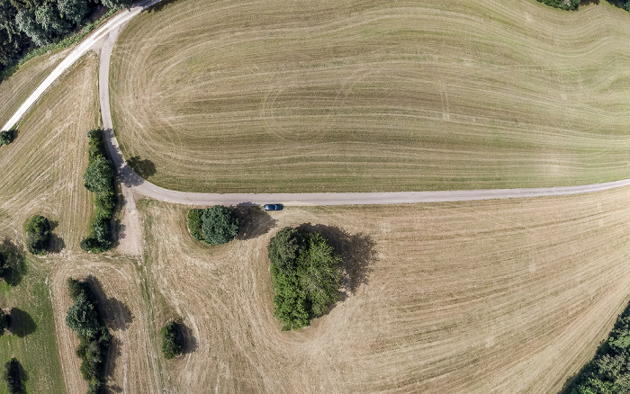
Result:
<svg viewBox="0 0 630 394"><path fill-rule="evenodd" d="M105 392L105 365L112 336L96 307L96 297L85 281L69 278L67 288L74 304L67 309L66 324L79 337L76 355L88 394Z"/></svg>

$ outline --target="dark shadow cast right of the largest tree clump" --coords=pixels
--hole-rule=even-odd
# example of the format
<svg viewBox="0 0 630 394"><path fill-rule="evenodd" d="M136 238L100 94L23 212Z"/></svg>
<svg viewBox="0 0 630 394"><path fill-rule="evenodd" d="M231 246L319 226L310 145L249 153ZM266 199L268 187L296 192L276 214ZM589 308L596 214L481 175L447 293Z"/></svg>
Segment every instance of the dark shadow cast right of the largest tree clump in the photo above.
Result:
<svg viewBox="0 0 630 394"><path fill-rule="evenodd" d="M318 232L329 241L335 253L341 255L341 296L339 300L355 294L362 284L369 282L372 266L378 261L376 244L372 237L365 233L350 234L343 228L322 224L302 224L301 231Z"/></svg>

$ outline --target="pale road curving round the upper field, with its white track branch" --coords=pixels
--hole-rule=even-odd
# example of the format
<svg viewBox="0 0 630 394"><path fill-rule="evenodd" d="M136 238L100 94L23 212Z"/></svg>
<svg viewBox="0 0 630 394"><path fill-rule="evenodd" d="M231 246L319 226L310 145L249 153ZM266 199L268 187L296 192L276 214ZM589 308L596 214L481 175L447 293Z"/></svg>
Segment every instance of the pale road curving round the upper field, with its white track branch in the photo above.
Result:
<svg viewBox="0 0 630 394"><path fill-rule="evenodd" d="M122 156L118 140L112 130L112 112L109 100L109 67L112 56L113 43L118 37L121 27L153 4L160 0L146 0L140 2L129 12L116 15L101 29L94 31L78 48L73 50L55 70L41 83L33 94L15 112L14 116L4 125L3 130L10 130L26 111L35 103L46 89L60 76L67 67L71 66L87 50L104 37L106 38L101 51L101 66L99 70L99 96L101 112L103 114L103 129L105 141L112 156L112 160L121 179L123 189L151 197L158 201L175 202L186 205L262 205L280 202L287 205L364 205L364 204L402 204L420 202L447 201L477 201L499 200L512 198L532 198L544 196L561 196L582 193L601 192L618 187L630 186L630 179L606 182L603 184L585 184L581 186L536 187L526 189L490 189L464 190L444 192L392 192L392 193L184 193L168 190L151 184L137 175ZM123 191L125 193L126 191Z"/></svg>

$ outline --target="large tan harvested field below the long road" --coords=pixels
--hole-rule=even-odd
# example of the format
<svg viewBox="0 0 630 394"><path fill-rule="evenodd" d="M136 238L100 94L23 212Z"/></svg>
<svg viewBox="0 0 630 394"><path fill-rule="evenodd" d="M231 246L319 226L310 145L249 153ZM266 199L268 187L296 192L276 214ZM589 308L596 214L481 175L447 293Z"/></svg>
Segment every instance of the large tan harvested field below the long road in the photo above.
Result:
<svg viewBox="0 0 630 394"><path fill-rule="evenodd" d="M629 197L250 209L226 246L141 200L152 330L179 316L190 339L161 362L165 390L557 392L630 300ZM283 333L266 244L303 223L340 239L352 291Z"/></svg>

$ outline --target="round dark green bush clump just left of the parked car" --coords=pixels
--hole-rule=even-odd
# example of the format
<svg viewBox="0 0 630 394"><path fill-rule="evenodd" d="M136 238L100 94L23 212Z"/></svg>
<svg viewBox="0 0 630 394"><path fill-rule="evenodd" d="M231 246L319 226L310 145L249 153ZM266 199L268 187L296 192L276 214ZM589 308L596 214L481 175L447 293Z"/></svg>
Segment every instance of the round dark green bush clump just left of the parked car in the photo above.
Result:
<svg viewBox="0 0 630 394"><path fill-rule="evenodd" d="M186 222L191 236L207 244L227 244L238 236L238 218L232 210L222 205L205 210L189 210Z"/></svg>

